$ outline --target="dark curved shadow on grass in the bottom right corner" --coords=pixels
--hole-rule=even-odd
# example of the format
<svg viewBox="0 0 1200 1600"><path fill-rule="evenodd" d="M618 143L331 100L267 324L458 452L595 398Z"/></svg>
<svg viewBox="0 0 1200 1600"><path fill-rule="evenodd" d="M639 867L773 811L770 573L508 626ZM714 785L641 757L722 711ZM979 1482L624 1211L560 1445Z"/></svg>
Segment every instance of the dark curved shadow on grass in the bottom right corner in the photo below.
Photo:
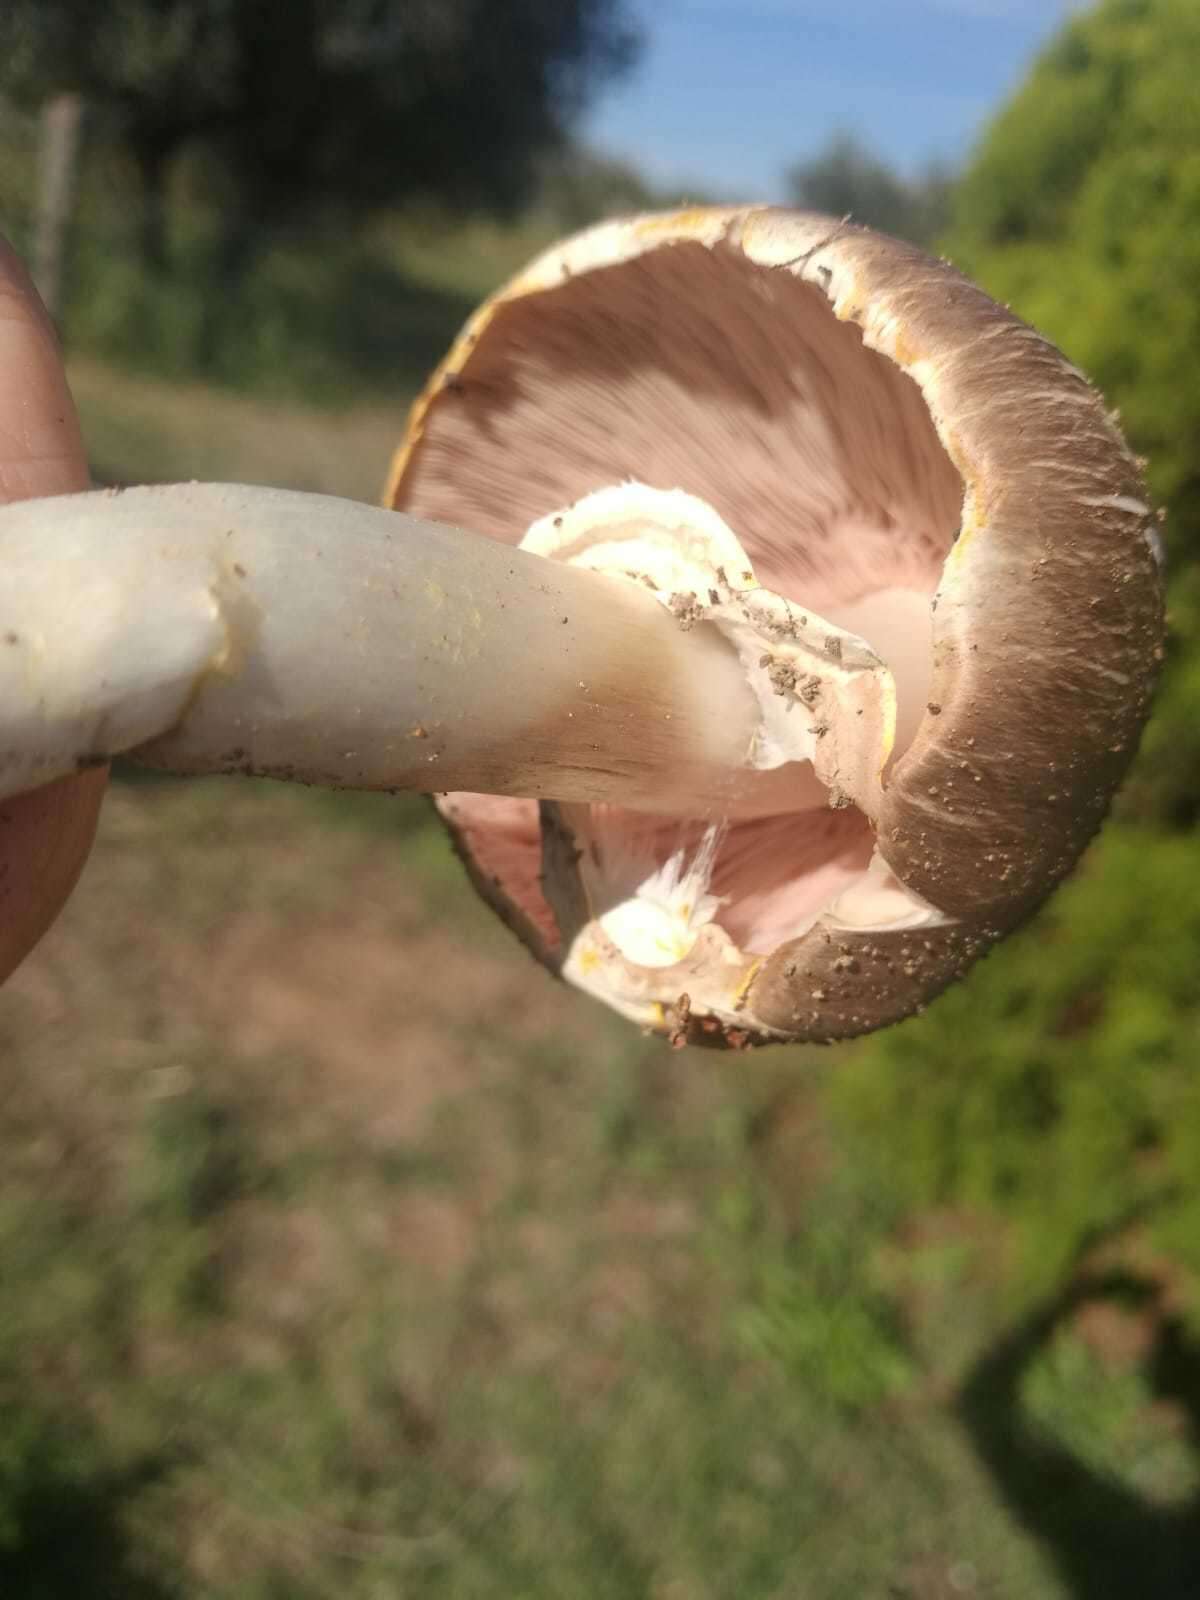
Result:
<svg viewBox="0 0 1200 1600"><path fill-rule="evenodd" d="M997 1486L1078 1600L1200 1595L1200 1496L1155 1506L1035 1430L1021 1406L1026 1373L1066 1318L1096 1301L1152 1307L1160 1293L1125 1270L1075 1278L994 1344L960 1392L960 1416ZM1200 1347L1174 1315L1157 1318L1146 1371L1154 1397L1182 1410L1198 1448Z"/></svg>

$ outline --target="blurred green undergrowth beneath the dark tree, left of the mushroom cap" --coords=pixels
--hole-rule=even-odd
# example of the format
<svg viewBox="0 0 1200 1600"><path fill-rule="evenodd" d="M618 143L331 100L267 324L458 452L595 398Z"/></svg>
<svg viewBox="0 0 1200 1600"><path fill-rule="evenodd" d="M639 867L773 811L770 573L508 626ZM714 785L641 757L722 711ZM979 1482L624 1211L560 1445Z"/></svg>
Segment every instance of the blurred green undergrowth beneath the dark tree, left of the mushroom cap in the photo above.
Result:
<svg viewBox="0 0 1200 1600"><path fill-rule="evenodd" d="M35 120L0 101L0 232L26 256L35 171ZM253 259L227 278L221 210L195 152L179 160L174 194L171 272L147 272L136 173L120 144L93 126L61 317L69 354L122 374L198 379L325 411L403 406L478 301L554 238L680 200L571 144L538 160L531 202L515 218L418 200L354 221L314 214L302 229L264 218ZM112 422L102 416L98 426L107 434ZM118 464L101 450L102 469ZM138 466L142 478L166 470Z"/></svg>

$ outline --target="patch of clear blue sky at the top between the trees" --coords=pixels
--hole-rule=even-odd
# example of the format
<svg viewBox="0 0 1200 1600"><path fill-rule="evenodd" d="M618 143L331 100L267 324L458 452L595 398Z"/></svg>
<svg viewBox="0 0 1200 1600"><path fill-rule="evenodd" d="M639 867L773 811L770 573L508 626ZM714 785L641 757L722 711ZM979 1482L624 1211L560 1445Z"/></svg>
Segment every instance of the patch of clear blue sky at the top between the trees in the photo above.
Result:
<svg viewBox="0 0 1200 1600"><path fill-rule="evenodd" d="M635 72L584 136L656 182L782 198L848 128L904 171L957 163L1072 0L630 0Z"/></svg>

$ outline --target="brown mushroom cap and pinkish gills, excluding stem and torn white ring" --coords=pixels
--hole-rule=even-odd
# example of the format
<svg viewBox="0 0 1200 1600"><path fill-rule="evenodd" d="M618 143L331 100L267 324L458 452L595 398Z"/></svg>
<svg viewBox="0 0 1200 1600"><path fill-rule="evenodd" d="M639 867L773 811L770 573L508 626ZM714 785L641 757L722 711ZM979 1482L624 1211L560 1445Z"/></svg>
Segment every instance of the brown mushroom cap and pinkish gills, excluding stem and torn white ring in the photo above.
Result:
<svg viewBox="0 0 1200 1600"><path fill-rule="evenodd" d="M931 915L830 915L822 880L794 928L771 914L747 939L734 907L730 1008L698 1008L683 962L630 1014L733 1045L909 1014L1072 867L1136 749L1163 630L1138 461L1083 374L947 262L811 213L701 208L592 227L488 299L418 398L386 502L517 542L627 480L701 496L798 605L837 621L899 590L930 621L928 698L872 814L795 829L843 829L838 859L874 859ZM547 818L520 806L442 805L485 896L560 970ZM758 832L765 906L795 830Z"/></svg>

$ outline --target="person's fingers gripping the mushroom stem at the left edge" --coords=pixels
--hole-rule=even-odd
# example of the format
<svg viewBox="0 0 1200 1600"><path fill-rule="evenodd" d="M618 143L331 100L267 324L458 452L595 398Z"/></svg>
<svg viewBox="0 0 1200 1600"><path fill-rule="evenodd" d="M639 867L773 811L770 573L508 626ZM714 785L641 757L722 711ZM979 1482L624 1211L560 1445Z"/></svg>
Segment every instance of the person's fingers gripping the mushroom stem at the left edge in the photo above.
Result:
<svg viewBox="0 0 1200 1600"><path fill-rule="evenodd" d="M0 502L86 486L54 328L29 274L0 240ZM98 768L0 803L0 982L70 894L96 832L106 776Z"/></svg>

